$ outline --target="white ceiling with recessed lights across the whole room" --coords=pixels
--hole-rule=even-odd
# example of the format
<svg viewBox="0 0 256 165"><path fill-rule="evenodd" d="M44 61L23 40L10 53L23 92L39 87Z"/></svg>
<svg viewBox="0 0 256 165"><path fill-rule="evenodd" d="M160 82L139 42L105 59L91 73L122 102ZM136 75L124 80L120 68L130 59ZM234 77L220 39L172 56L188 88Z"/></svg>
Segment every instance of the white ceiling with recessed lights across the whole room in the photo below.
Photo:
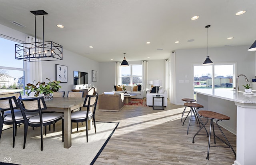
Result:
<svg viewBox="0 0 256 165"><path fill-rule="evenodd" d="M1 0L0 3L0 24L34 36L34 14L30 11L45 10L48 15L44 16L44 41L56 42L98 62L122 61L123 53L128 62L159 60L169 58L178 49L207 48L206 25L211 25L209 48L250 46L256 40L256 0ZM236 16L240 10L246 13ZM199 18L191 20L192 16ZM36 19L36 36L42 39L42 16ZM58 28L57 24L64 28ZM228 37L234 38L227 40ZM176 41L180 43L175 44ZM206 55L207 52L202 56Z"/></svg>

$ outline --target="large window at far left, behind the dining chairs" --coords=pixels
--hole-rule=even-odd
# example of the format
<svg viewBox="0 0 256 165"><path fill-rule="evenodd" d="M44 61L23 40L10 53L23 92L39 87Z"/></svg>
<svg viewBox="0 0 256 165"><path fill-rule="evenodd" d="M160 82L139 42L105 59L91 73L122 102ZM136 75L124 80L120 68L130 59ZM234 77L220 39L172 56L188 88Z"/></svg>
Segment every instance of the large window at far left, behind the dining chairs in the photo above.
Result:
<svg viewBox="0 0 256 165"><path fill-rule="evenodd" d="M24 62L15 60L17 42L0 37L0 93L20 91L24 94Z"/></svg>

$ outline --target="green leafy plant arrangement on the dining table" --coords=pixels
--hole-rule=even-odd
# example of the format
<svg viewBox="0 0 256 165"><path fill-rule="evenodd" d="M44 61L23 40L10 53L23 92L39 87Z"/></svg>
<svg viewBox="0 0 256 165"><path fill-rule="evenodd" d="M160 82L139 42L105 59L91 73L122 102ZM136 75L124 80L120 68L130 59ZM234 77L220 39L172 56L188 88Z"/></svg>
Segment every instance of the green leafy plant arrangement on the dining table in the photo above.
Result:
<svg viewBox="0 0 256 165"><path fill-rule="evenodd" d="M48 78L48 83L45 82L37 82L36 85L33 83L28 83L27 86L25 86L26 94L29 96L31 92L35 92L34 96L38 97L39 94L48 95L50 93L58 91L61 86L59 85L60 81L52 81Z"/></svg>

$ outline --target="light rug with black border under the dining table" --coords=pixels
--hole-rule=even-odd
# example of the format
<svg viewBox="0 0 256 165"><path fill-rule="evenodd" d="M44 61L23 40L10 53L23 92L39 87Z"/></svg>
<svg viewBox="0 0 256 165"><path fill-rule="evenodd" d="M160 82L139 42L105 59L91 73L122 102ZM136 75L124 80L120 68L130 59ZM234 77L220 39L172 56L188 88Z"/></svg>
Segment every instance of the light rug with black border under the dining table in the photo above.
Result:
<svg viewBox="0 0 256 165"><path fill-rule="evenodd" d="M79 123L78 132L76 123L73 124L72 146L64 148L62 143L61 122L56 123L55 132L47 132L43 139L41 151L40 128L28 129L25 149L23 149L24 127L20 125L15 138L15 147L12 148L12 128L2 131L0 140L0 162L19 165L92 165L108 140L116 130L118 123L96 122L97 133L94 126L88 131L86 143L85 123Z"/></svg>

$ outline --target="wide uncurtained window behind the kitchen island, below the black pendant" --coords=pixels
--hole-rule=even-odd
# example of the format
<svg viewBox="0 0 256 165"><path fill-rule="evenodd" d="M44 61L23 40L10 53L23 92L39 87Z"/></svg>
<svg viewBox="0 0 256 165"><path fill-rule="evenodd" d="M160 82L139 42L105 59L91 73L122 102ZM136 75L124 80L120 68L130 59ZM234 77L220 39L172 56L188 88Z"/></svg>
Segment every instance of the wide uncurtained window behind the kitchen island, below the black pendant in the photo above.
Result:
<svg viewBox="0 0 256 165"><path fill-rule="evenodd" d="M194 88L232 88L233 76L234 64L194 66Z"/></svg>

